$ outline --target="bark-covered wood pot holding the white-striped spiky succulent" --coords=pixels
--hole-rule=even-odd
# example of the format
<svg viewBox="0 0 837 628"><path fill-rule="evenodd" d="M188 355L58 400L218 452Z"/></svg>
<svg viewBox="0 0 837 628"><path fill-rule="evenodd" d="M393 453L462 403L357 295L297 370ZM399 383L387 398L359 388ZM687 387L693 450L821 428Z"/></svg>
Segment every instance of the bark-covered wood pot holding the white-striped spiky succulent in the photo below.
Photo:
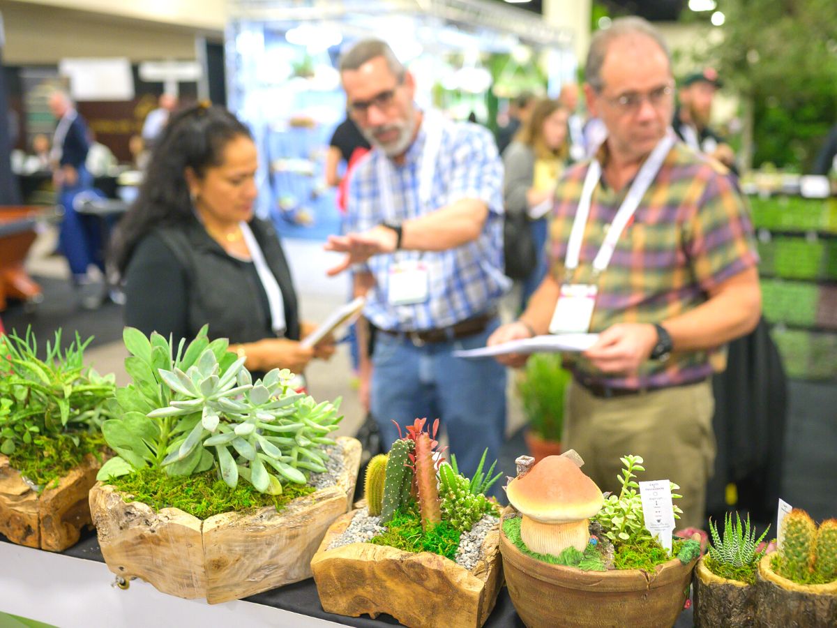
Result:
<svg viewBox="0 0 837 628"><path fill-rule="evenodd" d="M698 561L693 579L696 628L756 625L756 587L713 574L705 561Z"/></svg>

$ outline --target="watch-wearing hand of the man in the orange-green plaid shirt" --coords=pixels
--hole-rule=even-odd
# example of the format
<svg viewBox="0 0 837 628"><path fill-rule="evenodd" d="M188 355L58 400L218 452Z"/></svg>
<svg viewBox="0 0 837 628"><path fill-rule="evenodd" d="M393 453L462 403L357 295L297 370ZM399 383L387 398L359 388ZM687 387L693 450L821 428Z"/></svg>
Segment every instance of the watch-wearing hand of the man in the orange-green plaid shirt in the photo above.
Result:
<svg viewBox="0 0 837 628"><path fill-rule="evenodd" d="M602 373L633 375L656 343L657 330L650 323L622 322L605 329L582 355Z"/></svg>

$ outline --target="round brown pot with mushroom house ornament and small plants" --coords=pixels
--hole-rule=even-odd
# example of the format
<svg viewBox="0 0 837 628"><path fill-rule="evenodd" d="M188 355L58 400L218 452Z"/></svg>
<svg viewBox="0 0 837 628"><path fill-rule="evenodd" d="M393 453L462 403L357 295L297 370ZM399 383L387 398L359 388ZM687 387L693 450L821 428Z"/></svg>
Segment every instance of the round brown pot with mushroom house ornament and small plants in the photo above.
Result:
<svg viewBox="0 0 837 628"><path fill-rule="evenodd" d="M500 548L511 601L529 628L660 628L680 615L700 542L676 539L669 553L651 537L633 479L642 458L621 460L622 490L603 498L572 450L537 464L518 458Z"/></svg>

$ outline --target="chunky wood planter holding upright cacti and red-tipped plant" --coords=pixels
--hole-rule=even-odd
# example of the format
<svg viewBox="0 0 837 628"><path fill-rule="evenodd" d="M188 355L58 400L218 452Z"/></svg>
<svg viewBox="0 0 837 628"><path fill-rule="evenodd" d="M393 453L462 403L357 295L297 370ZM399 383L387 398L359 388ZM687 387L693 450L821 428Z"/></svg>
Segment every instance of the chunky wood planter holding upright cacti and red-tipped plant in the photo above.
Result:
<svg viewBox="0 0 837 628"><path fill-rule="evenodd" d="M326 549L352 522L347 512L331 525L311 560L323 610L374 619L393 615L403 625L479 628L503 582L499 530L482 544L471 571L431 552L410 553L386 545L351 543Z"/></svg>

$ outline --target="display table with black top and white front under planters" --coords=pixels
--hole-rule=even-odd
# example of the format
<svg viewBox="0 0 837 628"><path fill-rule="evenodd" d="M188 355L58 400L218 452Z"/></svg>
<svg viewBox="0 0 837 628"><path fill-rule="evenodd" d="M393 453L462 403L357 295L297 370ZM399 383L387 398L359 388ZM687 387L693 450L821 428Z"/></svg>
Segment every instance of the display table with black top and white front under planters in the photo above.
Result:
<svg viewBox="0 0 837 628"><path fill-rule="evenodd" d="M428 595L431 595L430 593ZM421 600L416 600L420 604ZM95 533L87 533L64 553L50 553L8 543L0 536L0 611L44 621L61 628L116 628L148 625L318 626L399 625L389 615L345 617L322 610L313 579L218 605L164 595L151 584L131 580L115 585L102 559ZM692 625L691 610L677 621ZM519 628L523 622L504 587L486 628Z"/></svg>

